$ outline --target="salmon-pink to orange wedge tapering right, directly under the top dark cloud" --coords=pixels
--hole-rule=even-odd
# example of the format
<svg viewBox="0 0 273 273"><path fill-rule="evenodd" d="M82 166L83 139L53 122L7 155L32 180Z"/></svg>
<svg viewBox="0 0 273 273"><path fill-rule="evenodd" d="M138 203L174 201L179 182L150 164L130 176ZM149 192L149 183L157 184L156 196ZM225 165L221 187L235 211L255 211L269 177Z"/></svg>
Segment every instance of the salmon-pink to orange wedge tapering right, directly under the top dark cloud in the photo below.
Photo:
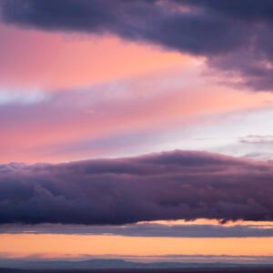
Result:
<svg viewBox="0 0 273 273"><path fill-rule="evenodd" d="M114 36L43 33L0 25L2 85L42 89L85 86L192 62L189 56Z"/></svg>

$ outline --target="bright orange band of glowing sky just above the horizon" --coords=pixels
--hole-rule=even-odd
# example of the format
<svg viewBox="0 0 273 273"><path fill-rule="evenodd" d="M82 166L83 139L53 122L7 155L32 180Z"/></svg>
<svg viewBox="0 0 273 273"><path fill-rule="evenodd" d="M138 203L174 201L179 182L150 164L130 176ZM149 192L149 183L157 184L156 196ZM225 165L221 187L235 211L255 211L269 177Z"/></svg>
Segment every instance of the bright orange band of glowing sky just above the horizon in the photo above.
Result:
<svg viewBox="0 0 273 273"><path fill-rule="evenodd" d="M121 236L0 236L10 257L79 255L273 255L273 238L132 238Z"/></svg>

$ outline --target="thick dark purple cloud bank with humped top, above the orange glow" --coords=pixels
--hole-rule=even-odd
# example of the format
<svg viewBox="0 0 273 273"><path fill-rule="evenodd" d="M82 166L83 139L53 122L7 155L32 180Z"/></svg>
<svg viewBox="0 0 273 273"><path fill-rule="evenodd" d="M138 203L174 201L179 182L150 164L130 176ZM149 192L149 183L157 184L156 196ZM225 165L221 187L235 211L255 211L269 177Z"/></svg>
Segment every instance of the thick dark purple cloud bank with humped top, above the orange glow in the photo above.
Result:
<svg viewBox="0 0 273 273"><path fill-rule="evenodd" d="M0 166L0 223L273 219L273 164L203 152Z"/></svg>

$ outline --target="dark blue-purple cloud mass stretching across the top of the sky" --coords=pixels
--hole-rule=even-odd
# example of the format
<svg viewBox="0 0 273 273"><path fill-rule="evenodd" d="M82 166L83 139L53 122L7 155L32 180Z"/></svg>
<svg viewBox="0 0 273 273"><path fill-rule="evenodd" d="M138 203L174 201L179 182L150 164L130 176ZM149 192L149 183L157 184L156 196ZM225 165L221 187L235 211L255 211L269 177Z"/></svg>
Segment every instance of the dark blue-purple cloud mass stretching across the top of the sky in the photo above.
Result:
<svg viewBox="0 0 273 273"><path fill-rule="evenodd" d="M272 89L270 0L8 0L2 21L45 31L114 34L206 56L233 84Z"/></svg>

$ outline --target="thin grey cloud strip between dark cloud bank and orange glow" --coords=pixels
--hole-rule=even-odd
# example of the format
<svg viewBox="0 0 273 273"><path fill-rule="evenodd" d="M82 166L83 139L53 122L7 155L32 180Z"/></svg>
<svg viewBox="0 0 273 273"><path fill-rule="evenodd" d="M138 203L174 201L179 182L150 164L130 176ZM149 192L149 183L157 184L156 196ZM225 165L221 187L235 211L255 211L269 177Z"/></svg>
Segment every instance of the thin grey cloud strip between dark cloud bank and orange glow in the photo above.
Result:
<svg viewBox="0 0 273 273"><path fill-rule="evenodd" d="M0 225L0 234L77 234L77 235L118 235L128 237L165 238L263 238L273 237L273 226L254 225L162 225L144 222L122 226L86 225Z"/></svg>

